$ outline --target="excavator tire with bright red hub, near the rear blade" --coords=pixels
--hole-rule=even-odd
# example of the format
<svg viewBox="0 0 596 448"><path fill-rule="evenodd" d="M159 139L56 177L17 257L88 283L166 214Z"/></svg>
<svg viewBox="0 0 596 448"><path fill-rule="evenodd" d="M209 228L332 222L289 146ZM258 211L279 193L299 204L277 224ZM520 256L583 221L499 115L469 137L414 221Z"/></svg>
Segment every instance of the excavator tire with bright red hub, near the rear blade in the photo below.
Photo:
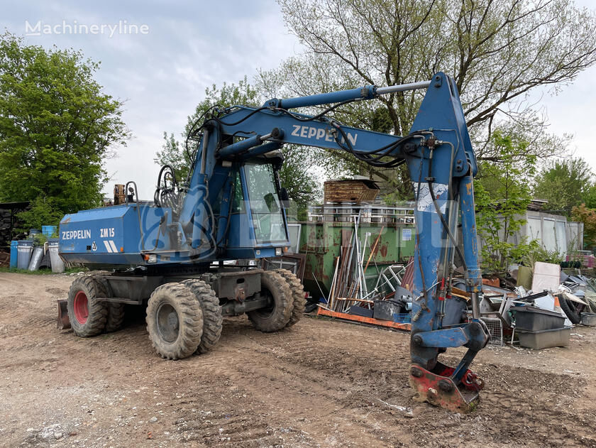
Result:
<svg viewBox="0 0 596 448"><path fill-rule="evenodd" d="M99 302L101 285L90 275L77 278L68 292L67 311L72 331L79 337L91 337L104 331L108 308Z"/></svg>

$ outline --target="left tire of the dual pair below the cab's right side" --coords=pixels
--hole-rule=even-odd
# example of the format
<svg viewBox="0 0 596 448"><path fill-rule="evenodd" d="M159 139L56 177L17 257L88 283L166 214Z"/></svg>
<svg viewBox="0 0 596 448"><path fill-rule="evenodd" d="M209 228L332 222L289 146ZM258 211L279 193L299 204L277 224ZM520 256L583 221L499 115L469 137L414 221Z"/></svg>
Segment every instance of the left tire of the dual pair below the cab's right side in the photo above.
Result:
<svg viewBox="0 0 596 448"><path fill-rule="evenodd" d="M261 274L261 295L270 297L271 305L246 313L250 322L261 332L277 332L292 317L294 300L285 278L275 271Z"/></svg>

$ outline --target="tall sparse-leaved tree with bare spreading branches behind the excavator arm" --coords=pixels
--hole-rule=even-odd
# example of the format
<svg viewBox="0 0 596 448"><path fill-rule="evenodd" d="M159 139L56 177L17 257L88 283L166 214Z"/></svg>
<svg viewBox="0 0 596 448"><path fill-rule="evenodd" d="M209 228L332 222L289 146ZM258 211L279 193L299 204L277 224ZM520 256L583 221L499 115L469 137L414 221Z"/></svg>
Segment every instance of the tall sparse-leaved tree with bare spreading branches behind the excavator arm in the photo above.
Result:
<svg viewBox="0 0 596 448"><path fill-rule="evenodd" d="M527 151L539 156L564 146L543 136L544 120L524 102L540 86L560 89L596 61L596 17L568 0L278 0L291 33L306 48L277 70L260 73L270 96L307 95L363 84L426 81L443 70L453 75L478 155L490 152L492 129L539 136ZM260 87L259 87L260 88ZM397 92L338 112L347 124L409 133L421 91ZM511 120L509 120L511 119ZM551 144L544 144L551 143ZM348 155L331 153L346 160ZM341 163L341 162L340 162ZM404 173L360 165L346 170L389 177ZM397 175L396 175L397 173ZM407 190L407 187L403 187Z"/></svg>

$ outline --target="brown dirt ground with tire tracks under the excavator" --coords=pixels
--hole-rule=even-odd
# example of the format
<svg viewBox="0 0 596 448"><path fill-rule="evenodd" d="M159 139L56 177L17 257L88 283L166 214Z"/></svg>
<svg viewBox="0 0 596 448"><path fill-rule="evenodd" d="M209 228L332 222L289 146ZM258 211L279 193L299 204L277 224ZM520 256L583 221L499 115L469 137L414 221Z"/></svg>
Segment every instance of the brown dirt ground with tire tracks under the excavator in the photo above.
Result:
<svg viewBox="0 0 596 448"><path fill-rule="evenodd" d="M0 273L0 446L596 447L592 328L567 349L483 350L482 400L459 415L412 400L408 334L236 317L214 351L165 361L143 310L99 337L57 330L73 279Z"/></svg>

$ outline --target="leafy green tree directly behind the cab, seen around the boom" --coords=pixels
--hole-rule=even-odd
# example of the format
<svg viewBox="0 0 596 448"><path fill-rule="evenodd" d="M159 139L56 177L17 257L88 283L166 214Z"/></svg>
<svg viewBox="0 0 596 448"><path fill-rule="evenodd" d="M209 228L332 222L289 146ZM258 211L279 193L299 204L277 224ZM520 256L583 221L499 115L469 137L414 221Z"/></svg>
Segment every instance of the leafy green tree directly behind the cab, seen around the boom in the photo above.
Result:
<svg viewBox="0 0 596 448"><path fill-rule="evenodd" d="M179 180L187 177L191 165L193 153L192 141L188 141L187 135L192 130L194 123L202 119L213 107L228 107L234 105L259 106L263 104L263 98L253 88L246 77L238 84L223 83L221 88L214 84L205 90L205 99L200 102L194 113L188 117L187 124L182 132L182 141L178 141L173 133L164 133L164 144L162 150L155 156L155 163L160 165L172 165ZM195 143L196 144L196 143ZM287 189L289 198L297 204L297 217L305 219L307 204L315 200L319 193L319 185L316 177L311 173L311 168L316 164L316 148L304 146L286 145L282 148L285 162L280 169L280 180L282 187Z"/></svg>

